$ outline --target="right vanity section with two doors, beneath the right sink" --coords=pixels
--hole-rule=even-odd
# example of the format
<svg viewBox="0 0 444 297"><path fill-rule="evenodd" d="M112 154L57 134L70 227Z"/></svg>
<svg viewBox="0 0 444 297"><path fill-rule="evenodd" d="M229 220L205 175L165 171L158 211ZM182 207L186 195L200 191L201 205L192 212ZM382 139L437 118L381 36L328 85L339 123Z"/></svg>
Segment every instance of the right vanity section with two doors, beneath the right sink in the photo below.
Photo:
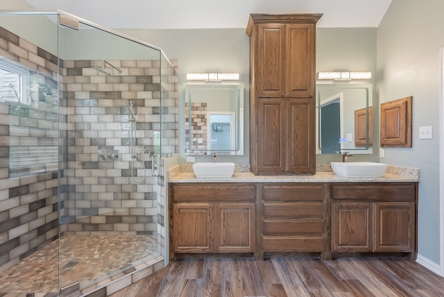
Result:
<svg viewBox="0 0 444 297"><path fill-rule="evenodd" d="M417 254L418 183L332 184L333 253Z"/></svg>

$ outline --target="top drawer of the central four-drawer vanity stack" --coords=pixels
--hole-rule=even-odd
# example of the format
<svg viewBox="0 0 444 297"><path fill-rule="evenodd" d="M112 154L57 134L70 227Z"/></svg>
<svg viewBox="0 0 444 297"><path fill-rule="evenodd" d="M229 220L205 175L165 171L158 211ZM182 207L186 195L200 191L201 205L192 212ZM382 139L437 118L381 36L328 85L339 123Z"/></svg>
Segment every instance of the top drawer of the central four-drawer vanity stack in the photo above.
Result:
<svg viewBox="0 0 444 297"><path fill-rule="evenodd" d="M263 185L264 201L323 201L323 184Z"/></svg>

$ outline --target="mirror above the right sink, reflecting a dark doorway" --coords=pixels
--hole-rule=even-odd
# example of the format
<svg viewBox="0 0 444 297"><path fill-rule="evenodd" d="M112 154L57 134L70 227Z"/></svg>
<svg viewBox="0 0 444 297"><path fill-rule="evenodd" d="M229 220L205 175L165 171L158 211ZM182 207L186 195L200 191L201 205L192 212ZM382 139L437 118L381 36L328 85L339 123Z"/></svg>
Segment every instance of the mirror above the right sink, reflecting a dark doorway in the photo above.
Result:
<svg viewBox="0 0 444 297"><path fill-rule="evenodd" d="M316 85L318 154L373 153L372 91L371 84Z"/></svg>

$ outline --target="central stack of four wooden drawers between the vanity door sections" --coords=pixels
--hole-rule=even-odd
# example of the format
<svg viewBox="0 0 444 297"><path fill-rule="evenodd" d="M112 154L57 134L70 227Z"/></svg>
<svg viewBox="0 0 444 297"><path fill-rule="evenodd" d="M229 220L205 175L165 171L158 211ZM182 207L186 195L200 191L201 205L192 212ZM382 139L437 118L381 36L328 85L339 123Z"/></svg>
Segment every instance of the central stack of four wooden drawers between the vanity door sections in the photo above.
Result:
<svg viewBox="0 0 444 297"><path fill-rule="evenodd" d="M262 185L262 251L321 253L325 244L324 185Z"/></svg>

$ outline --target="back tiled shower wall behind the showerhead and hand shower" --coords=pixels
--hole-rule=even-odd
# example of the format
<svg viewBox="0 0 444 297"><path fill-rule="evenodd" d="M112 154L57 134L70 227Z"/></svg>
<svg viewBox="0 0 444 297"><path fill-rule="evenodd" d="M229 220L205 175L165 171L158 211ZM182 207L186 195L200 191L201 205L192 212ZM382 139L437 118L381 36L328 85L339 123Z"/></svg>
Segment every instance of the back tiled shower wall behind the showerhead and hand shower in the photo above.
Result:
<svg viewBox="0 0 444 297"><path fill-rule="evenodd" d="M101 60L64 60L65 96L72 130L66 176L74 195L64 206L65 235L146 235L157 232L157 178L142 151L160 143L160 62L108 60L122 70L106 76ZM135 101L137 162L131 171L128 102ZM174 118L174 117L173 117ZM158 147L156 148L156 151ZM65 228L64 228L65 229Z"/></svg>

